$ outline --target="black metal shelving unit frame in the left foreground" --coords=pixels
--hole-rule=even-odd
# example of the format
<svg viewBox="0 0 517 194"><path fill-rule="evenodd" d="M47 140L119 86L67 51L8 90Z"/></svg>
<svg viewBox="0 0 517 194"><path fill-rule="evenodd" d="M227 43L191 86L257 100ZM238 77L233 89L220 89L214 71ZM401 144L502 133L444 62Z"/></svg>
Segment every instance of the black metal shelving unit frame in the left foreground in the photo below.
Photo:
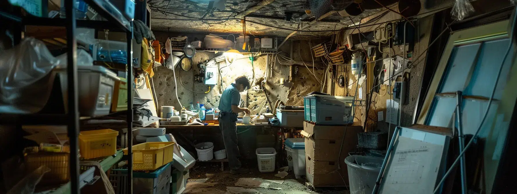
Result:
<svg viewBox="0 0 517 194"><path fill-rule="evenodd" d="M42 0L46 1L46 0ZM73 5L75 0L65 1L66 18L42 18L34 16L18 16L17 14L4 12L0 10L0 17L6 18L10 21L19 23L21 29L26 25L35 26L64 26L66 27L67 38L67 73L68 73L68 113L67 114L28 114L28 115L12 115L9 118L0 118L2 124L47 124L47 125L67 125L68 136L70 143L70 193L80 193L80 171L79 171L79 123L82 117L79 116L79 100L78 100L78 68L77 68L77 39L75 32L77 27L88 27L95 29L110 29L117 32L125 32L127 37L127 80L133 80L133 66L132 66L132 38L133 27L132 21L127 21L125 18L117 18L110 11L117 10L107 0L84 0L88 6L96 10L100 16L107 21L92 21L92 20L76 20ZM16 34L16 33L15 33ZM21 32L19 33L21 34ZM19 43L21 35L14 36L14 42ZM127 127L132 128L133 122L133 89L128 88L128 111L127 111ZM128 136L132 137L132 130L128 130ZM128 142L128 169L129 180L132 179L132 142ZM120 154L120 153L119 153ZM121 157L121 156L120 156ZM118 158L120 158L118 157ZM68 184L67 184L68 185ZM132 193L132 182L129 181L127 185L128 193Z"/></svg>

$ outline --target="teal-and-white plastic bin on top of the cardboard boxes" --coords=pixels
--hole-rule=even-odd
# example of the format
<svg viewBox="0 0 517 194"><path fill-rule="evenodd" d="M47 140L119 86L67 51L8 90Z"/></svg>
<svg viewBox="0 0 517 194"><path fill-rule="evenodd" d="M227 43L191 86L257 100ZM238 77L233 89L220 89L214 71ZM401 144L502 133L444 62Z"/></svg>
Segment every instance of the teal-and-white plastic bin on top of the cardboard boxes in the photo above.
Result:
<svg viewBox="0 0 517 194"><path fill-rule="evenodd" d="M305 120L316 124L354 123L354 97L311 95L303 97Z"/></svg>

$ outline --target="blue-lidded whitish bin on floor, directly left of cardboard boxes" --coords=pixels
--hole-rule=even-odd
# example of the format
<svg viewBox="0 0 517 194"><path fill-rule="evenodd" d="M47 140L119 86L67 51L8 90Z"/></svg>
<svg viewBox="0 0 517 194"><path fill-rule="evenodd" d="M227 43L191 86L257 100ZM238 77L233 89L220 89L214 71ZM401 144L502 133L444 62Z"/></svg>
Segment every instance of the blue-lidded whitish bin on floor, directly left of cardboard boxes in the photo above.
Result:
<svg viewBox="0 0 517 194"><path fill-rule="evenodd" d="M296 178L305 176L305 138L287 138L284 144L289 169Z"/></svg>

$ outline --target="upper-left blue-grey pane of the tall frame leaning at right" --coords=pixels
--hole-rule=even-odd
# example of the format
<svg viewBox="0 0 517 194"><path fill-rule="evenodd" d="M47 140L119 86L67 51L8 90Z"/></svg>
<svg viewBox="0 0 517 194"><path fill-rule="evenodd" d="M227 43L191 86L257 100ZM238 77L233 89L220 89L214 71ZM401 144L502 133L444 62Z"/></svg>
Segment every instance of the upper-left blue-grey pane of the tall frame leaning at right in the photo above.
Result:
<svg viewBox="0 0 517 194"><path fill-rule="evenodd" d="M455 47L438 93L463 91L481 43Z"/></svg>

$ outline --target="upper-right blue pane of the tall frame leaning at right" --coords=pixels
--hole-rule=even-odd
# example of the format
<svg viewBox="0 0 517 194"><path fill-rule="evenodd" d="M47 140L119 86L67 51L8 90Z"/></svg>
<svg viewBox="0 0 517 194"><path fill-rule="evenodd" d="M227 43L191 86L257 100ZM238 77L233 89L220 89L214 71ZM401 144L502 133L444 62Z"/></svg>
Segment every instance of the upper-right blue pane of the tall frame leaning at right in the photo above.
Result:
<svg viewBox="0 0 517 194"><path fill-rule="evenodd" d="M499 71L504 54L508 48L509 39L492 40L483 43L479 53L478 62L472 73L472 78L465 88L463 95L484 96L489 98L495 84L495 77ZM495 99L500 99L503 94L506 78L512 62L512 53L508 55L494 94ZM448 84L448 83L447 83Z"/></svg>

